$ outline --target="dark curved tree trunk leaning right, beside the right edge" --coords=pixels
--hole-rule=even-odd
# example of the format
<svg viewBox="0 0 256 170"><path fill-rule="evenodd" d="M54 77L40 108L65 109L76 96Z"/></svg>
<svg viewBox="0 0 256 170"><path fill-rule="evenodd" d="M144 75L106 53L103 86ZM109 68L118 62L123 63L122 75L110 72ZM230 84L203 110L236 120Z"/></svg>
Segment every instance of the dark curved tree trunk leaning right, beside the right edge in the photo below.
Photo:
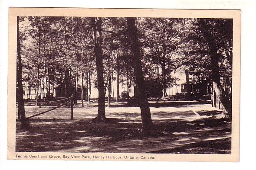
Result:
<svg viewBox="0 0 256 170"><path fill-rule="evenodd" d="M223 117L231 119L232 104L231 104L230 98L224 92L223 87L220 83L220 73L219 73L219 56L220 55L217 53L216 42L213 38L213 35L209 31L206 21L204 19L198 19L198 23L200 25L200 29L210 49L213 89L216 92L216 95L219 96L220 102L223 105Z"/></svg>

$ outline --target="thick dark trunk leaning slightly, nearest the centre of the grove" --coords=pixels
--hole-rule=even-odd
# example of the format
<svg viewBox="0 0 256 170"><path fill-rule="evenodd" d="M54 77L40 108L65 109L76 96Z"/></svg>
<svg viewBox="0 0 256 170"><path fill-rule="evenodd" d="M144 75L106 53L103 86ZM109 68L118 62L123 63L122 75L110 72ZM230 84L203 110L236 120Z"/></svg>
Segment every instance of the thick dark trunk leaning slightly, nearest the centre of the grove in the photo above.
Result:
<svg viewBox="0 0 256 170"><path fill-rule="evenodd" d="M141 108L142 131L147 132L153 125L148 99L145 93L144 76L141 67L141 51L138 42L138 33L135 18L127 18L128 36L131 43L131 54L138 88L138 103Z"/></svg>

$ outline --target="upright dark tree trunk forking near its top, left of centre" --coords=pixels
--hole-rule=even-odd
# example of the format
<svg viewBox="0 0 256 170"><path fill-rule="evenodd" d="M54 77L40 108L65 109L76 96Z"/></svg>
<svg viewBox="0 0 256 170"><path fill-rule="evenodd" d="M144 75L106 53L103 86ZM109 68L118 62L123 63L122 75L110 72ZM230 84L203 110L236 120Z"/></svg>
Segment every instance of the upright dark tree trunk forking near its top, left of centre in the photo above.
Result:
<svg viewBox="0 0 256 170"><path fill-rule="evenodd" d="M94 54L96 60L96 71L98 81L98 115L95 121L104 121L105 115L105 89L103 77L103 58L102 58L102 18L91 17L92 38L94 41Z"/></svg>

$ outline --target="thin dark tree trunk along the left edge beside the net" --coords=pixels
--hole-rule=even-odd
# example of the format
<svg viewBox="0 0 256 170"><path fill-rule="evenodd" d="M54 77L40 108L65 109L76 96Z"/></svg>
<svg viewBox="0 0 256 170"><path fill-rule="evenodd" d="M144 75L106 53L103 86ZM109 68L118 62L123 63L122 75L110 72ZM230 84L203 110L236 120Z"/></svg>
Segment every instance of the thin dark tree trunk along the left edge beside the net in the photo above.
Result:
<svg viewBox="0 0 256 170"><path fill-rule="evenodd" d="M20 128L26 129L30 125L26 121L26 114L23 100L23 85L22 85L22 61L20 55L20 30L19 30L19 16L17 16L17 60L16 60L16 78L18 82L18 115L20 115L21 126Z"/></svg>

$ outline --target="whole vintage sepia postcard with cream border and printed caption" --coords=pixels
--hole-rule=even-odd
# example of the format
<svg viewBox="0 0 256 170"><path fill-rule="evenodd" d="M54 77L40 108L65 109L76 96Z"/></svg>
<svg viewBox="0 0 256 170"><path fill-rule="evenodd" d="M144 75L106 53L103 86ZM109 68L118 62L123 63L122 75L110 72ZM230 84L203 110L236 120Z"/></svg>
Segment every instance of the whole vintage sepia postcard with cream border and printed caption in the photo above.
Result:
<svg viewBox="0 0 256 170"><path fill-rule="evenodd" d="M9 8L7 158L239 161L240 10Z"/></svg>

